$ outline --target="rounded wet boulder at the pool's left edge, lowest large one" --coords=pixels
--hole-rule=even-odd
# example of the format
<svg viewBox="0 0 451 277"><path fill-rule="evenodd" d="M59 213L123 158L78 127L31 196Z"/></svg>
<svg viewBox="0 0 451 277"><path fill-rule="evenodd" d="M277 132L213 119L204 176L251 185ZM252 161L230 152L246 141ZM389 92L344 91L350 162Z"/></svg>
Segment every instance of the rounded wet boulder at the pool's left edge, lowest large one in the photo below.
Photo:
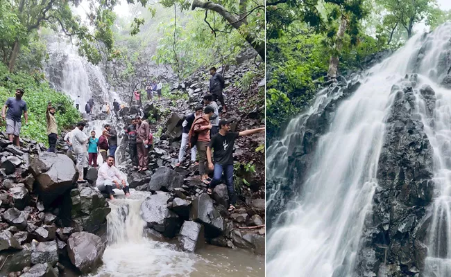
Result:
<svg viewBox="0 0 451 277"><path fill-rule="evenodd" d="M72 233L67 240L69 259L83 274L90 273L101 265L104 251L105 243L92 233Z"/></svg>

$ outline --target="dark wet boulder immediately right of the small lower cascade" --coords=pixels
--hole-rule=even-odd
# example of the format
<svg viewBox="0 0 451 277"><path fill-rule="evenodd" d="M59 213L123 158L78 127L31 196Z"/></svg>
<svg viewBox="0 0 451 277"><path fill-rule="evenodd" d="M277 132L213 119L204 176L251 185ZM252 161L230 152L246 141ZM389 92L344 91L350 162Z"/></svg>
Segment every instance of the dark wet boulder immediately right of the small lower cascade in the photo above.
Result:
<svg viewBox="0 0 451 277"><path fill-rule="evenodd" d="M142 219L147 226L159 231L168 238L173 238L180 227L180 218L167 208L171 198L169 193L158 191L147 197L141 204Z"/></svg>

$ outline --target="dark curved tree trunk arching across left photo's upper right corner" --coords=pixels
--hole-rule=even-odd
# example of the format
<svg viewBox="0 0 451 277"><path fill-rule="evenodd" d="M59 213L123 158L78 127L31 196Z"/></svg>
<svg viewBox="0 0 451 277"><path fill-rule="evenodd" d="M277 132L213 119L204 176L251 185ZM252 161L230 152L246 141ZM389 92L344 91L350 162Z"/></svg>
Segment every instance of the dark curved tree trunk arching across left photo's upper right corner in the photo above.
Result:
<svg viewBox="0 0 451 277"><path fill-rule="evenodd" d="M219 13L219 15L221 15L221 17L223 17L224 19L226 19L230 25L233 26L233 28L235 29L239 29L239 27L241 25L245 25L244 20L239 20L239 17L232 15L230 12L228 12L226 10L226 8L224 8L223 6L216 4L216 3L212 3L212 2L202 2L201 0L194 0L193 4L191 6L191 9L194 10L196 8L203 8L205 10L213 10L214 12ZM250 46L252 46L255 51L257 51L258 55L260 57L262 57L262 60L264 60L264 55L265 55L265 46L264 46L264 42L256 42L257 38L254 37L253 35L250 35L250 33L248 32L242 32L241 36L244 37L244 39L246 39L246 42L248 42L250 44Z"/></svg>

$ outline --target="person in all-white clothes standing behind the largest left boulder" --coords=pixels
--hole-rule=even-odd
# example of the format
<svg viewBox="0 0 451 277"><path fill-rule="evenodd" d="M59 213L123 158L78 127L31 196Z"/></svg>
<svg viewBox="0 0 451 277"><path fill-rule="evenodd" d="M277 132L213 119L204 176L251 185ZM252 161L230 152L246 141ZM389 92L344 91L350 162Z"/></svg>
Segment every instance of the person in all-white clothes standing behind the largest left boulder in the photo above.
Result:
<svg viewBox="0 0 451 277"><path fill-rule="evenodd" d="M84 181L84 171L87 169L87 148L86 145L90 138L86 136L83 132L85 129L85 123L79 122L77 123L77 127L74 129L73 134L73 142L74 153L76 157L77 170L78 170L78 181Z"/></svg>

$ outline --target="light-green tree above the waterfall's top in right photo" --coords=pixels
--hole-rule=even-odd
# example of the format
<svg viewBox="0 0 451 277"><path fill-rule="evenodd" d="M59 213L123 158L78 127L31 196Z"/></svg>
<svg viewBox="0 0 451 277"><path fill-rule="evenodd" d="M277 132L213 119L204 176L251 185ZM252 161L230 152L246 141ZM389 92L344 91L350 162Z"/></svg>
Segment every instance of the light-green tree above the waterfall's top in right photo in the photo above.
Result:
<svg viewBox="0 0 451 277"><path fill-rule="evenodd" d="M414 24L432 15L436 8L435 0L379 0L389 13L387 23L405 28L407 39L412 36ZM395 28L393 28L394 32ZM391 32L393 34L393 32Z"/></svg>

